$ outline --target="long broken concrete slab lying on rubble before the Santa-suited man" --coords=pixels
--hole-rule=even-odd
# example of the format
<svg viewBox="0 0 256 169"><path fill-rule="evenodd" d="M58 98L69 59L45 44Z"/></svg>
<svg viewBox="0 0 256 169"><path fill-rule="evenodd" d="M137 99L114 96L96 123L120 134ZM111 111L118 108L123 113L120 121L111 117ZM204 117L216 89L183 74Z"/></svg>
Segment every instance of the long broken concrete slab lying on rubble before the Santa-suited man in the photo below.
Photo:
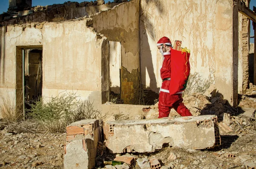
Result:
<svg viewBox="0 0 256 169"><path fill-rule="evenodd" d="M105 123L106 146L111 153L154 152L163 145L206 149L221 144L215 115Z"/></svg>

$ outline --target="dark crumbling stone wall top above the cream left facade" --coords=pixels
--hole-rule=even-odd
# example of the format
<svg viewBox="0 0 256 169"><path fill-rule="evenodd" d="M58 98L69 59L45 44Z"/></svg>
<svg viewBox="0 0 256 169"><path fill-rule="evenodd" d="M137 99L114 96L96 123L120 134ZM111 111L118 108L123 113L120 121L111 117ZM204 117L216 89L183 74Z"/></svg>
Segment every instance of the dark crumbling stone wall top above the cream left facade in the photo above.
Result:
<svg viewBox="0 0 256 169"><path fill-rule="evenodd" d="M85 4L86 3L86 4ZM44 21L54 21L60 22L62 20L76 19L79 17L89 16L95 14L99 11L105 11L107 9L113 8L113 6L119 3L109 3L103 5L95 5L94 3L84 2L67 2L64 4L54 4L49 6L36 6L34 8L28 8L27 10L35 11L32 14L28 14L19 19L12 17L5 17L7 20L0 22L0 25L14 25L22 24L27 22L44 22ZM3 14L2 14L3 15ZM1 18L1 17L0 17ZM10 19L8 19L10 18Z"/></svg>

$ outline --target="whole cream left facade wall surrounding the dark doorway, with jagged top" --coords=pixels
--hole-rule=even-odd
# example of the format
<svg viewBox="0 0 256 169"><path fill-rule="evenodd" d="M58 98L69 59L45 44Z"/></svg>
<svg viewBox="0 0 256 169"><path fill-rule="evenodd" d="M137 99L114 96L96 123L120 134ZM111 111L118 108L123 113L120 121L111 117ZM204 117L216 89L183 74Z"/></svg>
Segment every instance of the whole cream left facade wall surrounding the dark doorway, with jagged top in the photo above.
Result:
<svg viewBox="0 0 256 169"><path fill-rule="evenodd" d="M0 64L4 66L0 68L0 92L13 100L22 89L21 49L41 47L43 97L74 92L82 100L101 105L102 43L106 38L88 27L90 22L44 23L40 29L34 23L1 27Z"/></svg>

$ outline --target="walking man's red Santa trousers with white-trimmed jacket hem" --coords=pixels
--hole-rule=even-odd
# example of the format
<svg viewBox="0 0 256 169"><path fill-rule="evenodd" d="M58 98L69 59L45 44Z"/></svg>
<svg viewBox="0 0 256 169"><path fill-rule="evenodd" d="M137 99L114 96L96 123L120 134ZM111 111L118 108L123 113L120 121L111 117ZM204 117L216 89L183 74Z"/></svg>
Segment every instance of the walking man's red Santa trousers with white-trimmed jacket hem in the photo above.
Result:
<svg viewBox="0 0 256 169"><path fill-rule="evenodd" d="M189 109L187 109L183 103L182 93L170 95L169 86L170 80L163 81L159 94L158 118L169 117L172 108L175 109L180 116L192 116Z"/></svg>

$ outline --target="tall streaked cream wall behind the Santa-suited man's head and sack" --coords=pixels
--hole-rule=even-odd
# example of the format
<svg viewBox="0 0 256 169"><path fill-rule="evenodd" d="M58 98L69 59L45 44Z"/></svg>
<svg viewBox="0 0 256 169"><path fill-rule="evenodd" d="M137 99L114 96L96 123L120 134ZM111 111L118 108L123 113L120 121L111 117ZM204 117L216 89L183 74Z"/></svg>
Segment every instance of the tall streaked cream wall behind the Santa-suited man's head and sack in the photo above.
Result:
<svg viewBox="0 0 256 169"><path fill-rule="evenodd" d="M209 78L215 72L215 1L141 0L140 55L142 84L159 92L162 56L157 41L167 36L191 50L191 73Z"/></svg>

